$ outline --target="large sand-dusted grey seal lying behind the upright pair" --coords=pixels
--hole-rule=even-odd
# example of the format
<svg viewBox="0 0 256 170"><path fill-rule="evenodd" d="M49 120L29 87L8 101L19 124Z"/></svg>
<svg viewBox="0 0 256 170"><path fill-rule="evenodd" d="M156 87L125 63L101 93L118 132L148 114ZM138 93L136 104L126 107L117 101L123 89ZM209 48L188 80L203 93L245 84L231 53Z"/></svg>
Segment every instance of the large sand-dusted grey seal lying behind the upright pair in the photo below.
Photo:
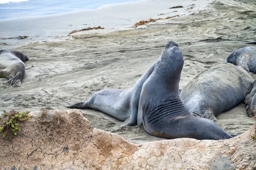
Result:
<svg viewBox="0 0 256 170"><path fill-rule="evenodd" d="M180 92L180 99L189 113L216 120L221 112L244 101L252 83L247 66L223 63L190 81Z"/></svg>

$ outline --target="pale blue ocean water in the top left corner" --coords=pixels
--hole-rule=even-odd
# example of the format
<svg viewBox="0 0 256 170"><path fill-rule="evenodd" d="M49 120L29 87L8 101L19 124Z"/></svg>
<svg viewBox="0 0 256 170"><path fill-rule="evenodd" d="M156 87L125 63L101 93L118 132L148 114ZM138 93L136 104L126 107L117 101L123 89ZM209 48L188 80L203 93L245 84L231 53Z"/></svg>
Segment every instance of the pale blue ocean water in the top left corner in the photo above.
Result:
<svg viewBox="0 0 256 170"><path fill-rule="evenodd" d="M92 10L111 3L139 0L0 0L0 20Z"/></svg>

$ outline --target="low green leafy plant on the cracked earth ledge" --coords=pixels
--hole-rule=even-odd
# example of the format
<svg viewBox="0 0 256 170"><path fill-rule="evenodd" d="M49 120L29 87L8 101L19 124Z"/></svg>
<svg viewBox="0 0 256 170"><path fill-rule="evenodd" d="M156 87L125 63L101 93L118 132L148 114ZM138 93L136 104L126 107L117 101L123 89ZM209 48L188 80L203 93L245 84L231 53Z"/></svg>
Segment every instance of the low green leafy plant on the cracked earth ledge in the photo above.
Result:
<svg viewBox="0 0 256 170"><path fill-rule="evenodd" d="M4 111L2 114L2 122L0 127L0 133L4 133L3 137L6 137L9 131L12 131L12 133L16 136L17 131L20 131L20 128L18 127L18 122L23 122L26 120L29 120L31 116L27 115L29 111L26 112L17 112L17 111L10 111L10 113L7 113Z"/></svg>

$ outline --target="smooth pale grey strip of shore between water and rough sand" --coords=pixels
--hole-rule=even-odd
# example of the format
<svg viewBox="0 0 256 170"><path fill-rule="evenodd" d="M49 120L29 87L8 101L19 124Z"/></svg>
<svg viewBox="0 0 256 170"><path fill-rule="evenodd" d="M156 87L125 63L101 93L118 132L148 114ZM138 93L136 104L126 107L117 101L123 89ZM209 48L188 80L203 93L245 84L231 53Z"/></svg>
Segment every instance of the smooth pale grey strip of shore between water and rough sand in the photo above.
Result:
<svg viewBox="0 0 256 170"><path fill-rule="evenodd" d="M87 27L101 26L105 29L100 31L83 31L82 34L107 33L110 31L131 29L135 23L141 20L148 20L149 18L157 19L160 17L166 18L175 15L181 16L199 12L200 10L204 10L210 2L212 2L212 0L186 0L182 2L177 0L171 2L166 0L142 0L107 4L97 9L87 11L4 19L0 20L0 38L18 36L29 36L29 38L23 40L0 39L0 46L1 48L17 48L30 43L63 40L67 39L67 35L71 31ZM195 4L195 6L189 6L192 4ZM179 5L184 7L169 9L170 7ZM143 6L143 8L141 8L141 6ZM152 8L152 6L154 6L154 8ZM188 7L189 9L187 9ZM157 23L169 23L169 20L157 21ZM3 45L4 43L7 45Z"/></svg>

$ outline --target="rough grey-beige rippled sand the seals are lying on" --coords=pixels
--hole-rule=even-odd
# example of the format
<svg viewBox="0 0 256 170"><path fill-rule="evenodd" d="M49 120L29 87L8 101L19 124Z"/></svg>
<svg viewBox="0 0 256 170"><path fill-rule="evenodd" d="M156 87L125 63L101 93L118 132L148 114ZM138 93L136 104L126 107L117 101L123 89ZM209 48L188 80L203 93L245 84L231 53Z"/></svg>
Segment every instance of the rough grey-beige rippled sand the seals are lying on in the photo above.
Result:
<svg viewBox="0 0 256 170"><path fill-rule="evenodd" d="M194 1L192 1L194 2ZM110 33L73 35L72 40L30 44L16 48L30 57L19 88L0 85L0 111L66 109L86 101L104 88L128 89L160 56L165 43L178 43L185 59L180 88L212 65L224 62L230 52L256 40L256 3L215 1L198 14L166 23ZM0 79L6 82L6 79ZM122 122L91 109L82 110L93 127L117 133L129 142L156 141L142 127ZM241 134L253 120L244 104L217 117L228 133Z"/></svg>

